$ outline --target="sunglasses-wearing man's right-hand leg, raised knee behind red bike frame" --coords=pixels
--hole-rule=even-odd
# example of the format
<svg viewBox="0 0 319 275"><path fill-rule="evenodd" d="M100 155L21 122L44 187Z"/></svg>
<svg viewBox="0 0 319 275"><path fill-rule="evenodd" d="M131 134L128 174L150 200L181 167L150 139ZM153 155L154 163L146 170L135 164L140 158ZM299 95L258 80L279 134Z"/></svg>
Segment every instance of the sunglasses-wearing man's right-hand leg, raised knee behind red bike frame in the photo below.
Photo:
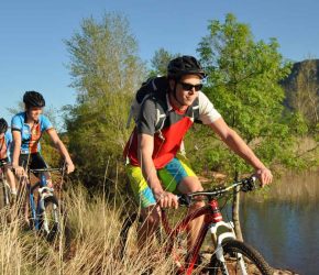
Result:
<svg viewBox="0 0 319 275"><path fill-rule="evenodd" d="M177 189L182 194L188 194L202 190L196 174L180 158L173 158L163 169L158 170L158 176L168 191L175 191ZM202 206L202 201L197 201L189 207L188 212L191 213ZM188 224L188 250L194 246L202 221L204 217L199 217Z"/></svg>

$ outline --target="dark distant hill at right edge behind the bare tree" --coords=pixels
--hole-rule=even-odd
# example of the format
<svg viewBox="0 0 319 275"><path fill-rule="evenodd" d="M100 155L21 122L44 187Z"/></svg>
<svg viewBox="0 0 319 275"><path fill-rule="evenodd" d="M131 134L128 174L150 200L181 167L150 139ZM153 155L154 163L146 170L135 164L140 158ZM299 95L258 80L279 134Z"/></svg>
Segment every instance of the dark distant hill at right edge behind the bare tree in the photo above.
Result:
<svg viewBox="0 0 319 275"><path fill-rule="evenodd" d="M296 92L307 92L307 89L316 90L319 97L319 59L306 59L295 63L292 73L280 82L286 92L284 105L295 109L294 96ZM317 99L318 100L318 99Z"/></svg>

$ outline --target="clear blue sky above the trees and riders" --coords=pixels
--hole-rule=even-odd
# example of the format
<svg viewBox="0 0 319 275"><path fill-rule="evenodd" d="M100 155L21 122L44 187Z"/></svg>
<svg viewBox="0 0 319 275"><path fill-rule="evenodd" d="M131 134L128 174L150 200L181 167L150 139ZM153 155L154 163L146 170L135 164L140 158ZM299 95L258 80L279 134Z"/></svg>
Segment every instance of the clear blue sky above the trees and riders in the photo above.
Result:
<svg viewBox="0 0 319 275"><path fill-rule="evenodd" d="M209 20L229 12L248 23L256 40L276 37L285 58L319 58L318 0L10 0L0 3L0 117L11 114L25 90L41 91L47 106L74 103L68 87L69 56L63 40L80 29L82 19L103 12L127 15L140 56L156 50L196 55Z"/></svg>

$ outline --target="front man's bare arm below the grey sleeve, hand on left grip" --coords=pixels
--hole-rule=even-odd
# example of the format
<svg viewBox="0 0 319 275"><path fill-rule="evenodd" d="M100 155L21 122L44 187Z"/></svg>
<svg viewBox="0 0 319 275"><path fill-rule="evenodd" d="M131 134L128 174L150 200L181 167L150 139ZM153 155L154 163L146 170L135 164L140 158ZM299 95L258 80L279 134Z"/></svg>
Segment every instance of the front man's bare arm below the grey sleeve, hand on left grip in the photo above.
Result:
<svg viewBox="0 0 319 275"><path fill-rule="evenodd" d="M178 201L174 194L163 190L161 182L157 177L156 168L153 163L153 150L154 150L154 138L148 134L139 134L139 162L144 178L147 185L152 189L155 199L158 201L161 207L174 207L177 208Z"/></svg>

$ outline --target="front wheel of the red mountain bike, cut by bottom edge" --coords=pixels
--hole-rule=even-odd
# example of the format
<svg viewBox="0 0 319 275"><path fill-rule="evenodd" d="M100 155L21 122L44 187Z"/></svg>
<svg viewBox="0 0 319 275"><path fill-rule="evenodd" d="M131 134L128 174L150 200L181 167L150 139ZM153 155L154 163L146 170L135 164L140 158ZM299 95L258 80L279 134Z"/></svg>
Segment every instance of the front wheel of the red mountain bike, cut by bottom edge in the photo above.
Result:
<svg viewBox="0 0 319 275"><path fill-rule="evenodd" d="M274 273L263 256L246 243L238 240L227 240L222 243L222 249L228 274L241 274L240 272L237 273L237 267L240 265L238 262L238 253L243 255L248 274L271 275ZM211 256L208 272L210 275L227 274L223 264L217 258L216 253Z"/></svg>

